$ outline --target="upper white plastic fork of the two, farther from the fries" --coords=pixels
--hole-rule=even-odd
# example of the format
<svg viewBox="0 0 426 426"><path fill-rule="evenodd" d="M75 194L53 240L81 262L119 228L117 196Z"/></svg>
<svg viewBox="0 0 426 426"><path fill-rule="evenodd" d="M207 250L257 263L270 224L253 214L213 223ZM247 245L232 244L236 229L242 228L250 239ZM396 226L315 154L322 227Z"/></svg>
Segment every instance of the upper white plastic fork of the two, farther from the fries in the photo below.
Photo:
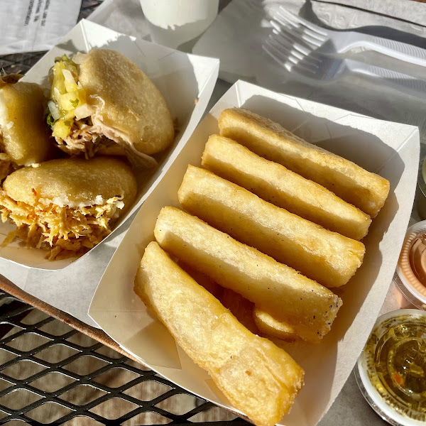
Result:
<svg viewBox="0 0 426 426"><path fill-rule="evenodd" d="M271 24L277 31L291 32L305 46L323 54L345 53L353 48L369 48L405 62L426 67L426 50L355 31L332 31L316 26L280 6Z"/></svg>

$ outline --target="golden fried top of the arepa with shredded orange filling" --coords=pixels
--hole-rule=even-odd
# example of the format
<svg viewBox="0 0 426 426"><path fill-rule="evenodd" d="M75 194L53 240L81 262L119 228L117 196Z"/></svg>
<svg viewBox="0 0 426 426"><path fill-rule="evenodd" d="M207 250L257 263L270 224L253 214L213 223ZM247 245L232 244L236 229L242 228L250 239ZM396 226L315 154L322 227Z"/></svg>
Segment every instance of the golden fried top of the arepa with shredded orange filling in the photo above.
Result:
<svg viewBox="0 0 426 426"><path fill-rule="evenodd" d="M33 205L46 200L70 207L104 204L118 196L123 197L126 208L137 190L130 168L110 157L61 158L42 163L38 168L21 168L6 178L3 187L16 201Z"/></svg>

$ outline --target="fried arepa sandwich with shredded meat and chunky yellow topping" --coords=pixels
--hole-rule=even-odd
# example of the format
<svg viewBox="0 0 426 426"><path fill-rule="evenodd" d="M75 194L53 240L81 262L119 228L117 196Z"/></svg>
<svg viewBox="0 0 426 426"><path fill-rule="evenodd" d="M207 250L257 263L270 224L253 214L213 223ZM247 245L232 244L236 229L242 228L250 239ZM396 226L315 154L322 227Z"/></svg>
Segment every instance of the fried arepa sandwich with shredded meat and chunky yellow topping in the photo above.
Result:
<svg viewBox="0 0 426 426"><path fill-rule="evenodd" d="M62 151L148 155L163 151L175 130L163 95L145 73L115 50L56 58L48 124ZM118 144L118 146L116 145Z"/></svg>

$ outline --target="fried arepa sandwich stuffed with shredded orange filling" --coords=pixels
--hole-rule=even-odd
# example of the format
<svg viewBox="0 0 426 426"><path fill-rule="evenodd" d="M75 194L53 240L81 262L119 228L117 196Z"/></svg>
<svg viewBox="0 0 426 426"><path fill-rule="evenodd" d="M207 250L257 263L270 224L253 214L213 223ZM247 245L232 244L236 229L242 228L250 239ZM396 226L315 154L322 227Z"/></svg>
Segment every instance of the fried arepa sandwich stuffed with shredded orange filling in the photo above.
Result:
<svg viewBox="0 0 426 426"><path fill-rule="evenodd" d="M48 258L81 256L111 233L133 203L136 179L112 157L50 160L16 170L0 190L1 219L17 226L14 238L48 249Z"/></svg>

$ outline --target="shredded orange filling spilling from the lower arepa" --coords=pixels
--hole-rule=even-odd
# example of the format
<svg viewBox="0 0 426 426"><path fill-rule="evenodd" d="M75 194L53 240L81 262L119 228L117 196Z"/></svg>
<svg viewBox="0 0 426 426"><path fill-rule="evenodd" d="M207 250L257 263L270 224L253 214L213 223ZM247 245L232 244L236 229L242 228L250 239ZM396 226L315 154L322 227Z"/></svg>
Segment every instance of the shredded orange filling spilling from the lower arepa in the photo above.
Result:
<svg viewBox="0 0 426 426"><path fill-rule="evenodd" d="M15 201L0 190L1 220L9 218L18 229L11 231L1 246L18 238L27 247L47 249L49 260L82 256L111 234L110 224L124 207L122 197L88 207L60 207L39 200L34 206Z"/></svg>

